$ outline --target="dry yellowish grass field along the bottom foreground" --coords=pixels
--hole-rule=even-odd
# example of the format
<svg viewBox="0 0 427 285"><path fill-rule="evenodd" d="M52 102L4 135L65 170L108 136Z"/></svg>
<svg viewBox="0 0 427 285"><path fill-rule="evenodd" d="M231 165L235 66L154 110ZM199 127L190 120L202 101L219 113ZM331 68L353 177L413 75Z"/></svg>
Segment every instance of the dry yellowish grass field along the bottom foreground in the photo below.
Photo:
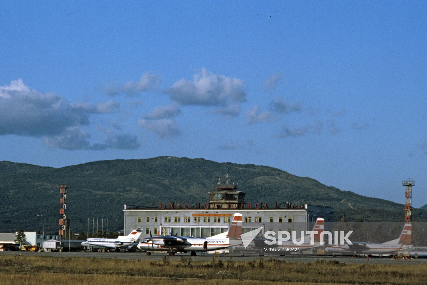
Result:
<svg viewBox="0 0 427 285"><path fill-rule="evenodd" d="M424 264L0 256L0 284L427 284Z"/></svg>

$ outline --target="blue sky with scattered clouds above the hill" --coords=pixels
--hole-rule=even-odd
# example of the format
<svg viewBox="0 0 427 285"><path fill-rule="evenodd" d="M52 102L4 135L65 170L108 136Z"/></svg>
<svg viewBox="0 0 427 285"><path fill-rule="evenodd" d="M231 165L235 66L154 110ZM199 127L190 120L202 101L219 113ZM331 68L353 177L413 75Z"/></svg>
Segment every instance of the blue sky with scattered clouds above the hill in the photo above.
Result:
<svg viewBox="0 0 427 285"><path fill-rule="evenodd" d="M427 203L425 2L27 2L0 11L0 160L269 165Z"/></svg>

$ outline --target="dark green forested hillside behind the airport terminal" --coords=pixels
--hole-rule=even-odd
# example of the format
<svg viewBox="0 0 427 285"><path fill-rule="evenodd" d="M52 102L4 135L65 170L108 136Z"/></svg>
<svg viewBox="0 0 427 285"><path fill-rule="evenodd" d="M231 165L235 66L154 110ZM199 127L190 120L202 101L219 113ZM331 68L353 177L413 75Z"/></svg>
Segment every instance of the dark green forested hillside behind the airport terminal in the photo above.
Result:
<svg viewBox="0 0 427 285"><path fill-rule="evenodd" d="M87 229L88 217L91 221L108 217L108 229L120 230L123 204L205 203L207 192L215 189L217 177L224 177L225 172L238 179L239 190L247 193L246 202L266 202L269 207L284 201L323 204L335 207L336 217L351 221L403 220L401 204L341 191L268 166L174 157L98 161L61 168L3 161L0 232L41 229L43 221L37 214L47 217L46 231L56 231L60 183L71 186L67 217L74 232ZM413 217L427 221L427 210L414 209Z"/></svg>

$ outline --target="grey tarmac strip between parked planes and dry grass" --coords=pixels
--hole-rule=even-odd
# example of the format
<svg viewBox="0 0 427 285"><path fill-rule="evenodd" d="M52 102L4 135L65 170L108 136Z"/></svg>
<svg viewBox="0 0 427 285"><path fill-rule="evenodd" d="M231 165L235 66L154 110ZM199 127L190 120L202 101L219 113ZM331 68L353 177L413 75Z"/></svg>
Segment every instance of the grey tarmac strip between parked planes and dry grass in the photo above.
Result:
<svg viewBox="0 0 427 285"><path fill-rule="evenodd" d="M71 251L71 252L19 252L19 251L6 251L0 252L0 256L51 256L51 257L90 257L90 258L111 258L111 259L146 259L146 260L161 260L164 256L169 257L171 260L180 260L181 256L190 256L190 254L177 253L175 256L169 256L167 253L152 253L147 256L146 253L135 252L135 253L89 253L84 251ZM194 261L198 260L211 260L212 254L192 256L191 259ZM257 255L245 255L239 254L228 254L223 253L215 255L222 260L232 258L235 261L252 261L260 258ZM263 256L264 259L269 259L270 256ZM391 263L404 263L404 264L427 264L427 259L418 258L412 260L391 260L390 257L371 257L369 260L366 257L352 258L351 256L310 256L310 255L292 255L292 256L272 256L272 258L289 261L289 262L313 262L316 260L338 260L345 263L360 263L360 264L391 264Z"/></svg>

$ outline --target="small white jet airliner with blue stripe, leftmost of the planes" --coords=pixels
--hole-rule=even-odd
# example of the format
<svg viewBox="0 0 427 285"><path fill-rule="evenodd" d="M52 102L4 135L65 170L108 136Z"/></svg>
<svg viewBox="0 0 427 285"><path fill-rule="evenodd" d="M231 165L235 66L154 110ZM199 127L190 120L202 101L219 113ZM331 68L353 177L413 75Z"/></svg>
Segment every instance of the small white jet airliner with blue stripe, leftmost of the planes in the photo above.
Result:
<svg viewBox="0 0 427 285"><path fill-rule="evenodd" d="M88 238L82 242L82 246L88 247L89 251L92 251L92 247L101 247L98 252L105 252L105 247L107 247L119 252L122 247L137 245L141 233L140 229L133 229L129 235L119 235L118 238Z"/></svg>

